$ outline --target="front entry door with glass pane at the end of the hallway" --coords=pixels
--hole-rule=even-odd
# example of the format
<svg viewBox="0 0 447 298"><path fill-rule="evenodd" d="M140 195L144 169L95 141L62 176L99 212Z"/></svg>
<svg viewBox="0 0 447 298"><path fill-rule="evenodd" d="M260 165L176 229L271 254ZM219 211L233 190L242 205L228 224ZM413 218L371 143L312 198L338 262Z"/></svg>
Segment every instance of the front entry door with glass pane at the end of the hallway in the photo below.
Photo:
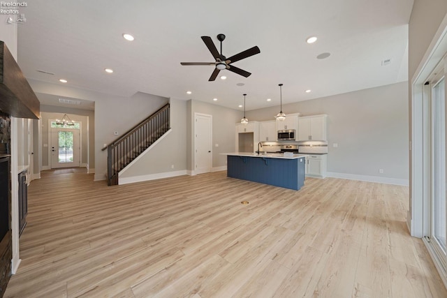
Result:
<svg viewBox="0 0 447 298"><path fill-rule="evenodd" d="M79 167L79 129L51 128L51 168Z"/></svg>

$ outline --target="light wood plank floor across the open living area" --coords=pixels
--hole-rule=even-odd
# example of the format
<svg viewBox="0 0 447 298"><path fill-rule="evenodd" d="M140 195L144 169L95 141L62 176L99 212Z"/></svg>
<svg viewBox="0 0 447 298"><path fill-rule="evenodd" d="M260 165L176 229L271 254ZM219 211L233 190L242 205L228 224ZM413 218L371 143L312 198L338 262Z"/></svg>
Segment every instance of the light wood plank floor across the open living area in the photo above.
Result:
<svg viewBox="0 0 447 298"><path fill-rule="evenodd" d="M331 178L292 191L226 172L108 187L45 171L5 297L445 298L406 228L408 191Z"/></svg>

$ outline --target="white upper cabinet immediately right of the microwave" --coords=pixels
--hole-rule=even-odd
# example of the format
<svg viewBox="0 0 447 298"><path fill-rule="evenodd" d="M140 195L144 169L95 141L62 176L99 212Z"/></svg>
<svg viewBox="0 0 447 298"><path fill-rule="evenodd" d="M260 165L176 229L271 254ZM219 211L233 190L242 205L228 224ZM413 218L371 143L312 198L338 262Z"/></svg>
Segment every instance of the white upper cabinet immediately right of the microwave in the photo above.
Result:
<svg viewBox="0 0 447 298"><path fill-rule="evenodd" d="M298 141L325 141L326 117L328 115L305 116L298 119Z"/></svg>

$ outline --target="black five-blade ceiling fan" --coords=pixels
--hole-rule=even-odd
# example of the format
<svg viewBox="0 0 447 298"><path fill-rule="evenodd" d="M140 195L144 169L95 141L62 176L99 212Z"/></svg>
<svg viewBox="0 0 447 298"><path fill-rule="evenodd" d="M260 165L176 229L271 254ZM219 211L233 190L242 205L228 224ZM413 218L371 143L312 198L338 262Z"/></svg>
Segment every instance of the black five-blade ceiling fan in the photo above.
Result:
<svg viewBox="0 0 447 298"><path fill-rule="evenodd" d="M239 54L235 54L229 58L226 58L222 54L222 41L225 40L225 35L218 34L217 40L221 42L221 52L217 51L216 46L212 42L212 39L210 36L202 36L201 37L205 45L207 46L208 50L210 50L212 57L216 60L215 62L180 62L182 65L214 65L216 68L212 72L212 75L210 77L210 80L208 81L214 81L216 80L217 75L219 75L219 71L223 69L228 69L230 71L233 71L233 73L237 73L238 75L243 75L244 77L248 77L251 75L248 71L245 71L243 69L237 68L236 66L231 65L233 62L245 59L247 57L253 56L255 54L259 54L261 50L259 50L259 47L251 47L248 50L245 50L243 52L240 52Z"/></svg>

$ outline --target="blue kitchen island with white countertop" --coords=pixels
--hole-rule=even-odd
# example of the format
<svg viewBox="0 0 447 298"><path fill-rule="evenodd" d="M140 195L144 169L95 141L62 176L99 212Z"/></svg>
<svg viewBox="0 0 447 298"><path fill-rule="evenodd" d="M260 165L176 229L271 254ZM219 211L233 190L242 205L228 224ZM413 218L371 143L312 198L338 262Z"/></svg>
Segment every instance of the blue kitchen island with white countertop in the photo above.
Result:
<svg viewBox="0 0 447 298"><path fill-rule="evenodd" d="M227 177L244 179L298 191L305 183L307 154L225 153Z"/></svg>

